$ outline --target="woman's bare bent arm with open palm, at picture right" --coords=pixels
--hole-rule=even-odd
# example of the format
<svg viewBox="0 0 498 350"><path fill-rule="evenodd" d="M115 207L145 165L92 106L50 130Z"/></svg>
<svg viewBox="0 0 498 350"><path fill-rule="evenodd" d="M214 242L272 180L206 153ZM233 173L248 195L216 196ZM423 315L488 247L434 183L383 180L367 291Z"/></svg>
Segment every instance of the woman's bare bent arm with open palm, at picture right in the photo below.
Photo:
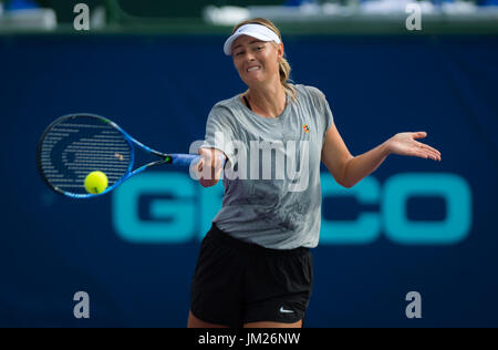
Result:
<svg viewBox="0 0 498 350"><path fill-rule="evenodd" d="M338 128L332 124L325 134L322 162L338 184L350 188L372 174L390 154L432 158L440 162L439 151L415 141L425 136L427 136L425 132L400 133L362 155L352 156Z"/></svg>

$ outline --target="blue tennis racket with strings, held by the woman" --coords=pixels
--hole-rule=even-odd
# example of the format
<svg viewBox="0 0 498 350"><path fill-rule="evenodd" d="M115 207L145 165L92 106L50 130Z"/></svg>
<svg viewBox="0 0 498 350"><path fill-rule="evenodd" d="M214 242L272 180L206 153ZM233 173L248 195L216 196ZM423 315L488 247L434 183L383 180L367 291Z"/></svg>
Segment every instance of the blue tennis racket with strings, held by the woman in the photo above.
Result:
<svg viewBox="0 0 498 350"><path fill-rule="evenodd" d="M133 169L135 148L158 157ZM199 155L165 154L145 146L114 122L95 114L69 114L46 127L37 150L37 163L44 182L54 192L72 198L104 195L145 169L174 164L189 166ZM107 176L108 185L98 194L86 192L84 181L95 171Z"/></svg>

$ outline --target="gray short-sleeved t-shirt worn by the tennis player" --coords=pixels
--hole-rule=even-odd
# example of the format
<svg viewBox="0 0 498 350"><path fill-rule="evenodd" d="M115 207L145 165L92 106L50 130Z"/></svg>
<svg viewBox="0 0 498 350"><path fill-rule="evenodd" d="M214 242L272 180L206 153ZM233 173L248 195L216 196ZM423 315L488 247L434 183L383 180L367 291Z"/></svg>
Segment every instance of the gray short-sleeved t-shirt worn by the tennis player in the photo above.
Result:
<svg viewBox="0 0 498 350"><path fill-rule="evenodd" d="M230 236L272 249L314 248L320 236L320 163L333 116L324 94L293 85L297 101L276 119L250 111L240 95L218 102L204 148L228 156L222 207L214 223Z"/></svg>

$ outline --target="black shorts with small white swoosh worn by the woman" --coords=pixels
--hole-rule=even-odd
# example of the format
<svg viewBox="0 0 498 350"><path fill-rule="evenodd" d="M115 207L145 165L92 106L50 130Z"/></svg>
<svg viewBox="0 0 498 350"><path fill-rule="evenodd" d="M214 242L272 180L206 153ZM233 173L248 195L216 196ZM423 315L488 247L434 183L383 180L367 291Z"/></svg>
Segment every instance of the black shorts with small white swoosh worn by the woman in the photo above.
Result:
<svg viewBox="0 0 498 350"><path fill-rule="evenodd" d="M229 327L304 319L312 289L309 248L268 249L212 225L203 240L190 291L198 319Z"/></svg>

